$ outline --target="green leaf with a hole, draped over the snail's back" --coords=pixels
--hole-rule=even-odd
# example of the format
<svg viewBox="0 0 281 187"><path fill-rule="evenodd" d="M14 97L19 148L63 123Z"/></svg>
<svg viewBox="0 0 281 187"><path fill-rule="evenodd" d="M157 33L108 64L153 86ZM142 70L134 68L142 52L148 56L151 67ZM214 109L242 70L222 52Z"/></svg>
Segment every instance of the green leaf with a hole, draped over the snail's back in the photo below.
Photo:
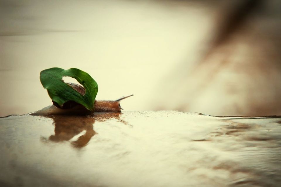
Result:
<svg viewBox="0 0 281 187"><path fill-rule="evenodd" d="M62 80L63 77L76 79L85 88L85 95L81 95L66 84ZM94 111L98 86L88 73L76 68L64 70L59 67L53 67L40 72L40 81L43 87L47 89L52 101L56 102L59 106L62 107L67 101L74 101L88 110Z"/></svg>

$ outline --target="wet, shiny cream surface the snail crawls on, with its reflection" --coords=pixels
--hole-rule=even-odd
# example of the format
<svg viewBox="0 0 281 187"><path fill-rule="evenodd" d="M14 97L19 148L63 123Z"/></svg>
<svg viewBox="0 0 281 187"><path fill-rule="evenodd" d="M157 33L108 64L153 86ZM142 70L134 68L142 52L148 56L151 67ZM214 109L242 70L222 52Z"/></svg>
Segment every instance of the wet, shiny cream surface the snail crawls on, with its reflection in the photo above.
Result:
<svg viewBox="0 0 281 187"><path fill-rule="evenodd" d="M1 118L1 186L278 186L280 117Z"/></svg>

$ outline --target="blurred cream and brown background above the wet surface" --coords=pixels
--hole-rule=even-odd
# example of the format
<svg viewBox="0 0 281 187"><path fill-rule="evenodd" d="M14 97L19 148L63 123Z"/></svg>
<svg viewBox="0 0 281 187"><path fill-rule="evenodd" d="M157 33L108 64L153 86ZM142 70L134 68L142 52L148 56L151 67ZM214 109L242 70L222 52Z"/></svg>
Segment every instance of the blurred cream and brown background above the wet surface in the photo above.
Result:
<svg viewBox="0 0 281 187"><path fill-rule="evenodd" d="M0 115L51 105L76 67L124 110L281 115L280 0L1 0Z"/></svg>

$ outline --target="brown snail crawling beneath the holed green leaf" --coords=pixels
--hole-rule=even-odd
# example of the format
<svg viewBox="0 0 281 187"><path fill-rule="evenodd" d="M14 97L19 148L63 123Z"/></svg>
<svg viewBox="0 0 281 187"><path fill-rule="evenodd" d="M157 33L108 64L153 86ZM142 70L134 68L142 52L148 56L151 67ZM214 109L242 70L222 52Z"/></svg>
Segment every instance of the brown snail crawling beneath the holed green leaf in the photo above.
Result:
<svg viewBox="0 0 281 187"><path fill-rule="evenodd" d="M75 84L75 83L66 83L66 84L71 86L74 90L76 90L81 95L85 95L86 91L83 86L80 86L79 84ZM95 112L120 112L121 110L123 110L123 108L121 108L120 106L120 101L131 96L133 96L133 94L129 96L121 97L115 101L95 100L94 103ZM64 110L64 109L68 109L68 110ZM41 110L29 114L30 115L55 115L55 114L87 114L87 113L90 113L90 111L74 101L67 101L66 103L63 104L62 107L53 101L53 105L47 106Z"/></svg>

